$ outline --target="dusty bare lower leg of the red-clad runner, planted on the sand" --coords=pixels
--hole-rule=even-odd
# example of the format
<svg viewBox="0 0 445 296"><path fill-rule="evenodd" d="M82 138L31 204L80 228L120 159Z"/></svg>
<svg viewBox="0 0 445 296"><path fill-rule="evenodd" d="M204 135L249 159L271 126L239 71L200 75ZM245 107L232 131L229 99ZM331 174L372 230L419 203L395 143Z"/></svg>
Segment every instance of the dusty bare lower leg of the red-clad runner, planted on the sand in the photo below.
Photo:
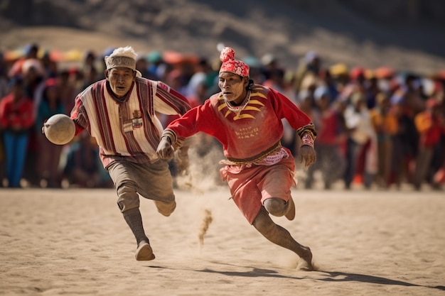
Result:
<svg viewBox="0 0 445 296"><path fill-rule="evenodd" d="M283 248L287 248L298 256L301 259L306 261L309 270L313 270L312 266L312 253L311 249L306 246L302 246L297 241L295 241L289 231L284 229L282 226L279 226L272 221L269 216L269 213L262 207L257 217L254 219L253 224L255 229L259 231L266 239L272 241L272 243L277 244L278 246L282 246Z"/></svg>

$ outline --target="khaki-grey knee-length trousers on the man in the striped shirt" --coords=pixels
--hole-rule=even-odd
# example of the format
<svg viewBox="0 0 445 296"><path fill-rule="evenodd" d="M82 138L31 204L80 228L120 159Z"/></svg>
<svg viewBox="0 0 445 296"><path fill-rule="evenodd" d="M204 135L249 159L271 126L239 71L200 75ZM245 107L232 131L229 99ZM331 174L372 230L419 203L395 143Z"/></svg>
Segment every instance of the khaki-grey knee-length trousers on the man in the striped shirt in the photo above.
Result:
<svg viewBox="0 0 445 296"><path fill-rule="evenodd" d="M168 216L176 208L173 180L168 162L131 163L115 161L107 167L117 191L117 205L121 212L139 208L139 194L152 199L158 211Z"/></svg>

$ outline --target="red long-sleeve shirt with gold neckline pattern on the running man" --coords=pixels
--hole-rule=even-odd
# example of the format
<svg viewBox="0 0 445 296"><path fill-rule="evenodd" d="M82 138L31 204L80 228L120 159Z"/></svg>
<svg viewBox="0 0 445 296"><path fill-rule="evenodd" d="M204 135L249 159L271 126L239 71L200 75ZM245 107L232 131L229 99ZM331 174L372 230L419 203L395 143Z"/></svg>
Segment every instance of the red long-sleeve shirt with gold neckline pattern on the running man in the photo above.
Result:
<svg viewBox="0 0 445 296"><path fill-rule="evenodd" d="M280 141L282 119L296 130L311 124L311 119L283 94L255 84L250 102L240 114L230 111L222 93L218 93L172 121L166 130L183 138L202 131L223 144L226 158L248 160L262 155Z"/></svg>

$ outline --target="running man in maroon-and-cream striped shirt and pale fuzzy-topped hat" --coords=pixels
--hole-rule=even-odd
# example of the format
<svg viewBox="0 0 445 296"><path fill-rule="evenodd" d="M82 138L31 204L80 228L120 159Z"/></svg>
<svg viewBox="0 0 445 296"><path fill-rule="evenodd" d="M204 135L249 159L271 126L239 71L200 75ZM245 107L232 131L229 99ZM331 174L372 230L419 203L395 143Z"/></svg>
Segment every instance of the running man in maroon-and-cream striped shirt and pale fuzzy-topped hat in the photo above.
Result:
<svg viewBox="0 0 445 296"><path fill-rule="evenodd" d="M168 162L156 148L163 127L156 113L185 114L191 107L163 82L147 80L136 70L133 48L117 48L105 57L105 79L75 98L71 119L76 134L87 130L100 148L100 159L117 190L117 204L137 243L136 260L155 258L139 211L139 194L169 216L176 208ZM186 146L181 155L186 154Z"/></svg>

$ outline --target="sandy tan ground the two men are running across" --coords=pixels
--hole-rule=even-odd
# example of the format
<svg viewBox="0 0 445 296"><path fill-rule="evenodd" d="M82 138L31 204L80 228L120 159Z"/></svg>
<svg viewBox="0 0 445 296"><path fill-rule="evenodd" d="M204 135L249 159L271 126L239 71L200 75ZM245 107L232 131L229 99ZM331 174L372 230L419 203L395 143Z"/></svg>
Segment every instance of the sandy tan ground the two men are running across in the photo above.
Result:
<svg viewBox="0 0 445 296"><path fill-rule="evenodd" d="M444 295L444 192L294 190L317 271L269 243L227 188L176 190L170 217L143 199L156 259L134 260L114 190L0 190L0 295ZM205 210L212 223L198 238Z"/></svg>

